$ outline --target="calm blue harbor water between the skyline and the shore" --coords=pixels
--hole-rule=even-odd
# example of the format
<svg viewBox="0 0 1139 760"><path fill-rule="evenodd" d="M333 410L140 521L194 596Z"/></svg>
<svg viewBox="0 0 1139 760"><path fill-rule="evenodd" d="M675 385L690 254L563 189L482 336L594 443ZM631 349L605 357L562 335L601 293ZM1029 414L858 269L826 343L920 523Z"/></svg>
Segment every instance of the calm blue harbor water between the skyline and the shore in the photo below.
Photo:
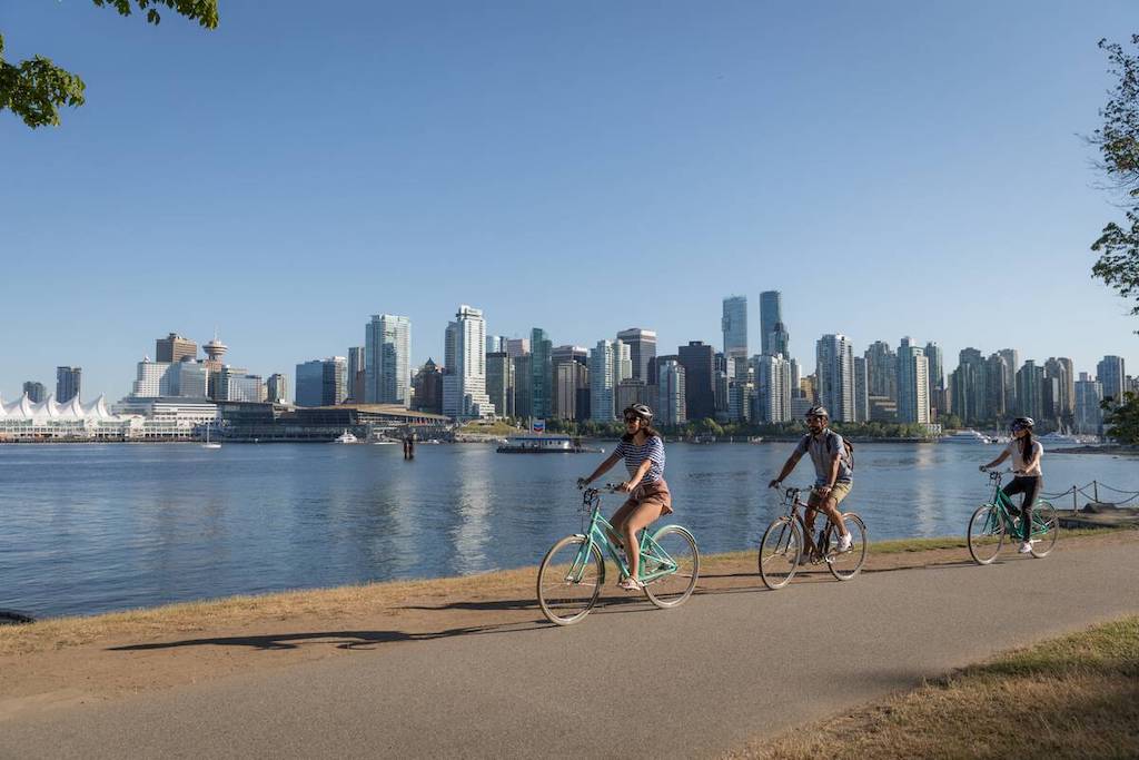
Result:
<svg viewBox="0 0 1139 760"><path fill-rule="evenodd" d="M778 508L765 484L790 448L670 443L671 520L704 553L754 547ZM861 444L850 508L871 540L964 533L988 496L977 465L998 450ZM482 444L424 444L413 461L398 446L3 446L0 607L91 614L533 565L580 530L573 484L601 457ZM1139 490L1136 464L1046 455L1044 490L1093 479ZM803 461L787 482L811 480ZM609 497L606 512L616 506Z"/></svg>

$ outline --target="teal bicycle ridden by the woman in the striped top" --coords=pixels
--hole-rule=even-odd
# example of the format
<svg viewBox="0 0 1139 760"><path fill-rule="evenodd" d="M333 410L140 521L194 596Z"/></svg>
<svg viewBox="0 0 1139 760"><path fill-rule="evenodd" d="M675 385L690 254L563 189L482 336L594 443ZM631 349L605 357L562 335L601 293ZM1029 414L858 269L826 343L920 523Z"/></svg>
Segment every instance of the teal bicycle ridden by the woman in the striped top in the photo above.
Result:
<svg viewBox="0 0 1139 760"><path fill-rule="evenodd" d="M551 623L568 626L590 613L605 585L603 555L609 556L621 578L630 574L624 551L609 538L615 534L613 525L601 516L603 491L617 493L620 489L612 484L584 489L582 532L550 547L538 567L538 604ZM688 529L664 525L652 536L647 529L640 532L638 578L645 583L645 596L656 606L682 604L696 588L699 571L700 554Z"/></svg>

